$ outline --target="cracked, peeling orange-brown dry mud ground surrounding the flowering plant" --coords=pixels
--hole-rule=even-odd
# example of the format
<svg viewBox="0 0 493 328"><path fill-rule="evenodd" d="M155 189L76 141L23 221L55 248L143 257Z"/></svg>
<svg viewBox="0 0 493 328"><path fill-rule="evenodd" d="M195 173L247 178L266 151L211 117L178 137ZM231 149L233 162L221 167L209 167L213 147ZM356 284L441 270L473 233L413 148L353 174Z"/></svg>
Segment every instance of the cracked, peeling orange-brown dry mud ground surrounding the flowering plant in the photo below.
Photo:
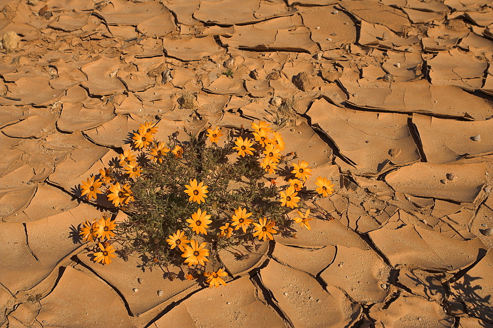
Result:
<svg viewBox="0 0 493 328"><path fill-rule="evenodd" d="M493 327L491 0L0 9L1 328ZM213 289L69 237L107 210L77 185L145 120L259 119L335 181L335 220L221 254Z"/></svg>

